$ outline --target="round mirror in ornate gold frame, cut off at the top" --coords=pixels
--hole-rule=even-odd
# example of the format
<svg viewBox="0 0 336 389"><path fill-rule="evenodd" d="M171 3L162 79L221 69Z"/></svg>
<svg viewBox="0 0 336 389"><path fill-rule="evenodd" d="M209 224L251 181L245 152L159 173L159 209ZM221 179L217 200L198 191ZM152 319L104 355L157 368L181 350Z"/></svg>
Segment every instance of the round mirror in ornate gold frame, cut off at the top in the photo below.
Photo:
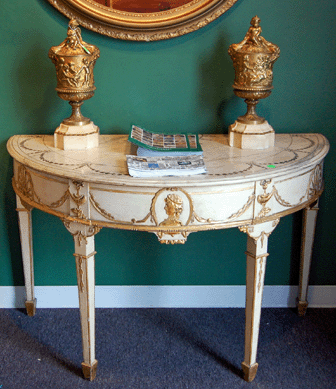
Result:
<svg viewBox="0 0 336 389"><path fill-rule="evenodd" d="M77 19L83 27L100 34L125 40L156 41L206 26L238 0L48 1L69 19ZM151 4L151 8L141 9L145 3ZM130 4L137 5L136 12L129 11Z"/></svg>

